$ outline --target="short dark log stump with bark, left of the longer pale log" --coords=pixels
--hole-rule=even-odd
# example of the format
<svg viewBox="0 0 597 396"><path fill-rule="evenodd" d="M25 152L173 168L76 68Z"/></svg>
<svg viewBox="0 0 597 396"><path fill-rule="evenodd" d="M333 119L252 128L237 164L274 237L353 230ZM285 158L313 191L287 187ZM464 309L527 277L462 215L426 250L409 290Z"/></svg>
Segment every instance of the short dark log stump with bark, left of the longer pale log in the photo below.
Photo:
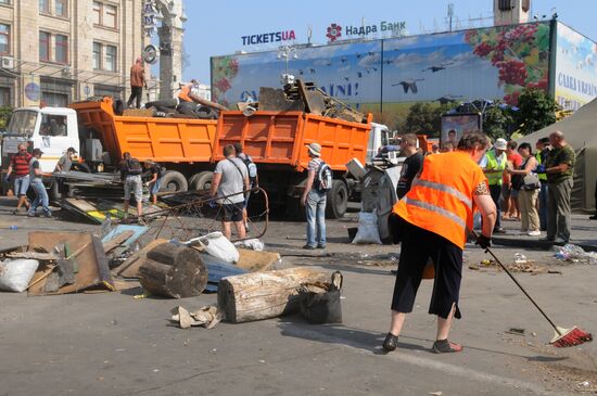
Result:
<svg viewBox="0 0 597 396"><path fill-rule="evenodd" d="M163 243L148 252L139 268L139 282L153 294L192 297L205 289L207 270L194 248Z"/></svg>

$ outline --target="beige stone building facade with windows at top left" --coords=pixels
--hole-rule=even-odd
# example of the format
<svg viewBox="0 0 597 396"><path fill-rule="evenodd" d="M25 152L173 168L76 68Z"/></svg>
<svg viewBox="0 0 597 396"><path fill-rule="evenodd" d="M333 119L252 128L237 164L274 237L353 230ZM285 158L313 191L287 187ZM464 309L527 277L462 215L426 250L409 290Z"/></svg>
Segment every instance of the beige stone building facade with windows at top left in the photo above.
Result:
<svg viewBox="0 0 597 396"><path fill-rule="evenodd" d="M143 3L0 0L0 105L125 99L130 65L149 43Z"/></svg>

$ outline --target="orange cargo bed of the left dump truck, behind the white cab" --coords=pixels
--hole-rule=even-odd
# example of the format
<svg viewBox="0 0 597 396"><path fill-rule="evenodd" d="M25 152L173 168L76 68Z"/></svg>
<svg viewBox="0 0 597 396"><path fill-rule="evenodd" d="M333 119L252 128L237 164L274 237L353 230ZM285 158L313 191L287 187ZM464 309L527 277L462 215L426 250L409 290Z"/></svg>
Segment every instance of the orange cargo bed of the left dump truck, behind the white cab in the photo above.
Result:
<svg viewBox="0 0 597 396"><path fill-rule="evenodd" d="M216 120L118 116L110 98L71 105L78 122L93 130L113 164L124 152L140 161L208 163L212 161Z"/></svg>

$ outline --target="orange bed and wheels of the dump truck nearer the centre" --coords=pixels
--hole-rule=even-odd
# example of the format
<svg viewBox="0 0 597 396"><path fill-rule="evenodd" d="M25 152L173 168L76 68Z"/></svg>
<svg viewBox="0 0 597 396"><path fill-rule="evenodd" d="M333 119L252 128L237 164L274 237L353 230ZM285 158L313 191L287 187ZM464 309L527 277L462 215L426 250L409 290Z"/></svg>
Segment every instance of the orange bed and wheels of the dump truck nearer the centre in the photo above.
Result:
<svg viewBox="0 0 597 396"><path fill-rule="evenodd" d="M309 156L306 145L321 144L321 157L333 170L328 193L328 216L342 217L356 184L346 173L346 163L357 158L365 164L371 130L367 124L350 123L302 112L221 112L218 119L214 161L223 158L221 148L240 142L257 164L259 184L269 196L298 208L307 178Z"/></svg>

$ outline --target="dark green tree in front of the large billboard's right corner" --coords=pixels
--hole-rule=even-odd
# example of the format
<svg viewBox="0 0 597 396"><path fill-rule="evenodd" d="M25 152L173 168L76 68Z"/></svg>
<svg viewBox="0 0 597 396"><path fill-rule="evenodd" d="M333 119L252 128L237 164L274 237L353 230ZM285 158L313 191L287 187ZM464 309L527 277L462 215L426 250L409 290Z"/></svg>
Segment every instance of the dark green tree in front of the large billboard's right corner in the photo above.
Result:
<svg viewBox="0 0 597 396"><path fill-rule="evenodd" d="M529 135L556 123L558 104L543 90L525 88L518 98L515 120L522 135Z"/></svg>

